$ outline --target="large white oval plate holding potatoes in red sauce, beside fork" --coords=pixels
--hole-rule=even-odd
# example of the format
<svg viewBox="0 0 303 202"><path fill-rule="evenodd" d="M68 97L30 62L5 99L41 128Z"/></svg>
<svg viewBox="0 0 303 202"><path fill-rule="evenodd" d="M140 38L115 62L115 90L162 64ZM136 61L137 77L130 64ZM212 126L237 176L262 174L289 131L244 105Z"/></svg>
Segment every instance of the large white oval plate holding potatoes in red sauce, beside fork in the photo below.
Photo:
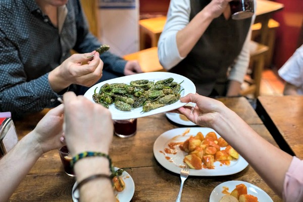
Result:
<svg viewBox="0 0 303 202"><path fill-rule="evenodd" d="M186 130L190 130L189 133L183 135ZM215 132L217 137L220 135L211 128L191 127L191 128L175 128L168 130L161 134L154 143L154 156L157 161L167 170L180 174L181 167L184 165L183 159L187 155L185 151L182 151L176 146L176 154L165 153L165 148L168 147L169 142L184 142L191 135L195 136L198 132L203 133L205 136L209 132ZM224 147L222 148L224 149ZM189 169L189 175L191 176L223 176L231 175L242 171L246 168L248 163L239 155L238 160L230 161L230 165L221 165L220 162L215 162L215 169Z"/></svg>

